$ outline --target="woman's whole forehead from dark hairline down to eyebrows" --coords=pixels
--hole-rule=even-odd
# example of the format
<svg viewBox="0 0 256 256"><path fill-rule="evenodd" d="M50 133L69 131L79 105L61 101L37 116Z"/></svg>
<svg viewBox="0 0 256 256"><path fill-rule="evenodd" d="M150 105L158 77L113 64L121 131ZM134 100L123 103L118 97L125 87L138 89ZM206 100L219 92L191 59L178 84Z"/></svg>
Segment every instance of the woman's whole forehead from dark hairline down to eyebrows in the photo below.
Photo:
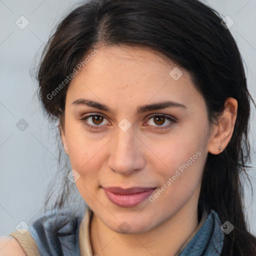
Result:
<svg viewBox="0 0 256 256"><path fill-rule="evenodd" d="M67 100L89 96L112 103L127 99L130 103L171 99L200 103L190 75L149 48L107 46L88 55L89 61L69 84Z"/></svg>

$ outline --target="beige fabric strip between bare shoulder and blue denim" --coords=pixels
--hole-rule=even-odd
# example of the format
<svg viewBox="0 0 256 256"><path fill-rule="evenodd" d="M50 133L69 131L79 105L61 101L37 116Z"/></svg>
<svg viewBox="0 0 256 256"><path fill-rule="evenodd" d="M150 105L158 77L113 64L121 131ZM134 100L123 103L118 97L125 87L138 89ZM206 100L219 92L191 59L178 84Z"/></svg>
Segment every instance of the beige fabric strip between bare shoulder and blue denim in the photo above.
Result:
<svg viewBox="0 0 256 256"><path fill-rule="evenodd" d="M36 242L29 231L21 229L20 232L14 231L10 235L19 242L27 256L40 256Z"/></svg>

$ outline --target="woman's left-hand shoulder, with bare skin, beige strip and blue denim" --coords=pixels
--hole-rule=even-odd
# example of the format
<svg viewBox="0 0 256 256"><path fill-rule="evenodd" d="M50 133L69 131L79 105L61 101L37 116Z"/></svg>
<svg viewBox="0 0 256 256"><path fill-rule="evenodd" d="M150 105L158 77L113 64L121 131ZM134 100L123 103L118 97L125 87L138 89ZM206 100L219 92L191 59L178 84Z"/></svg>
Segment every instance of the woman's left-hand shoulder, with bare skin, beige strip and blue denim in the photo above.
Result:
<svg viewBox="0 0 256 256"><path fill-rule="evenodd" d="M34 252L30 255L78 255L81 217L68 210L49 210L30 221L25 233L0 237L0 256L26 256L30 251Z"/></svg>

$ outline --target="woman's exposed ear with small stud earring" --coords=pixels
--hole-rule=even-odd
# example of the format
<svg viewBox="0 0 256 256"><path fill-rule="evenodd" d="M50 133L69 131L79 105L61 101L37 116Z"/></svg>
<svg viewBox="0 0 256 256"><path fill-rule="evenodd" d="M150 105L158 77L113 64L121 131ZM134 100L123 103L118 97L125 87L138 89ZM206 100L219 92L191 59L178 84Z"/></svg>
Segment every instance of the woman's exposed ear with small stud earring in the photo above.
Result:
<svg viewBox="0 0 256 256"><path fill-rule="evenodd" d="M219 117L218 125L214 125L208 143L208 151L212 154L221 153L231 139L237 115L237 100L228 97L225 100L224 110ZM221 148L219 148L221 147Z"/></svg>

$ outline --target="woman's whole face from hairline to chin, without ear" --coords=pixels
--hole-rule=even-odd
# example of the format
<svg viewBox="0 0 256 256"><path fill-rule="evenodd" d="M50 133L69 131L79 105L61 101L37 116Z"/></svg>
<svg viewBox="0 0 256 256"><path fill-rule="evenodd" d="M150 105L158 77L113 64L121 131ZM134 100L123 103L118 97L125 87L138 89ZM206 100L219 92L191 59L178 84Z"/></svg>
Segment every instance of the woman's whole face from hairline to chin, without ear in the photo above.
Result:
<svg viewBox="0 0 256 256"><path fill-rule="evenodd" d="M102 47L67 89L61 134L76 186L116 232L149 231L197 204L206 105L174 67L149 49Z"/></svg>

